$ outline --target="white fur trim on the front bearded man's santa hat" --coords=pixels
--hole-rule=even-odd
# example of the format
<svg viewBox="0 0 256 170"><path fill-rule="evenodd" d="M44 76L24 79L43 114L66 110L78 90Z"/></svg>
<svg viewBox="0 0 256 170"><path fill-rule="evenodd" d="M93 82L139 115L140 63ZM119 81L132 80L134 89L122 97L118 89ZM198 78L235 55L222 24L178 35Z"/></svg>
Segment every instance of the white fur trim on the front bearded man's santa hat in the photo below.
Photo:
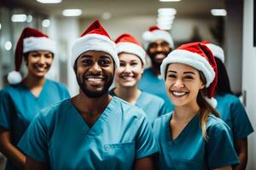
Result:
<svg viewBox="0 0 256 170"><path fill-rule="evenodd" d="M74 65L76 59L86 51L102 51L112 56L116 68L119 67L119 57L117 55L116 45L108 37L99 34L87 34L79 37L72 47L71 65Z"/></svg>

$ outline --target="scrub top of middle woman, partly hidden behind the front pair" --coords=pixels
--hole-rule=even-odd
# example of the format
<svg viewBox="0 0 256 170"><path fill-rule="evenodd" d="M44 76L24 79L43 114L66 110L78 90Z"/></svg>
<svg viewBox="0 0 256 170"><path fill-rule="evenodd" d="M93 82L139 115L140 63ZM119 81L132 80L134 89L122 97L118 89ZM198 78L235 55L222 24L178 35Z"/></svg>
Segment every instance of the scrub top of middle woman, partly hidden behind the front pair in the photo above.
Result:
<svg viewBox="0 0 256 170"><path fill-rule="evenodd" d="M112 96L116 96L113 92L114 88L109 91L109 94ZM165 105L165 101L163 99L160 99L159 97L148 94L146 92L143 92L140 94L140 96L137 99L137 102L135 104L138 108L141 108L148 117L148 122L150 122L152 125L154 123L154 120L162 115L165 115L168 113Z"/></svg>

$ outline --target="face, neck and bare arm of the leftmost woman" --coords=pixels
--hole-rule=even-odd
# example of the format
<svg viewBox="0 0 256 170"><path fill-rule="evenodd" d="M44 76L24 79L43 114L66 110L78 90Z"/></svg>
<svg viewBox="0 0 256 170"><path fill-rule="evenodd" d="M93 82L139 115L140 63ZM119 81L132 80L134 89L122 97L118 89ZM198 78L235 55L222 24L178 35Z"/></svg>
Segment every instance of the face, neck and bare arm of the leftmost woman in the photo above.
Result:
<svg viewBox="0 0 256 170"><path fill-rule="evenodd" d="M22 81L38 97L44 86L44 75L49 71L53 54L49 51L32 51L26 54L27 75ZM19 169L24 169L26 156L12 143L9 129L0 129L0 150Z"/></svg>

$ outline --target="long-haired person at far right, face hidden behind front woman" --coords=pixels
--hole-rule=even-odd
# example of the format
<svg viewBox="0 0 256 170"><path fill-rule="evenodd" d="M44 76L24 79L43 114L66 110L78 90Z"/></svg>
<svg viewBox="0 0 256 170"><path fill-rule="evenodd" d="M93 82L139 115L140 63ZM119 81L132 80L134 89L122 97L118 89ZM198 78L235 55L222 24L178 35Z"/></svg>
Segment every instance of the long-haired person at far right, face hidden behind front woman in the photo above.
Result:
<svg viewBox="0 0 256 170"><path fill-rule="evenodd" d="M233 133L236 154L240 161L234 169L243 170L247 167L247 136L253 133L253 126L240 99L231 91L230 79L224 65L224 50L212 42L203 43L211 49L218 66L218 83L214 98L218 101L216 110Z"/></svg>

